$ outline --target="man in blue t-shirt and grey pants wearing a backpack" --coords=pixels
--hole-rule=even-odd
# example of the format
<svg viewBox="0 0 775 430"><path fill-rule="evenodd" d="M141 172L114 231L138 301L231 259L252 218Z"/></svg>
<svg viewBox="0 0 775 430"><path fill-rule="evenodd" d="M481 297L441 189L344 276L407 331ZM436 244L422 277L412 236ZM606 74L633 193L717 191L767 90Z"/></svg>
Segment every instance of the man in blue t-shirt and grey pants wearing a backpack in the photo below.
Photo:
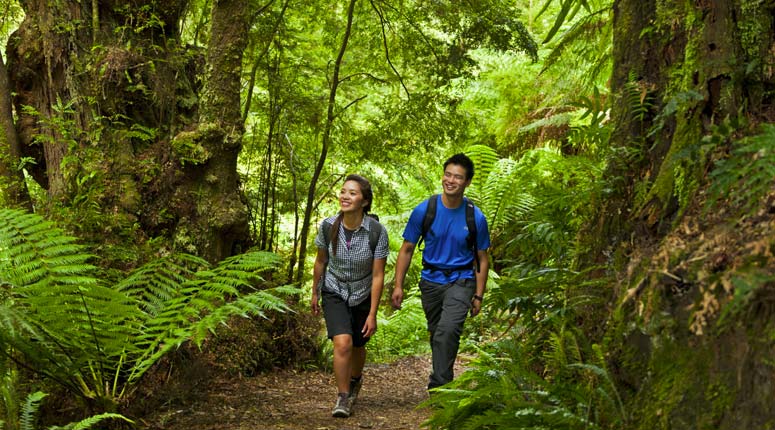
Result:
<svg viewBox="0 0 775 430"><path fill-rule="evenodd" d="M436 216L423 238L423 271L420 293L431 338L433 371L428 389L442 386L453 378L453 366L460 346L466 316L482 309L487 283L490 232L482 211L474 207L476 256L469 247L466 222L467 199L463 196L474 177L474 163L464 154L456 154L444 163L442 193L436 198ZM396 284L392 302L396 308L404 300L404 280L414 248L422 234L428 200L412 211L404 229L404 243L396 260ZM476 257L476 261L475 261ZM475 267L475 263L478 268Z"/></svg>

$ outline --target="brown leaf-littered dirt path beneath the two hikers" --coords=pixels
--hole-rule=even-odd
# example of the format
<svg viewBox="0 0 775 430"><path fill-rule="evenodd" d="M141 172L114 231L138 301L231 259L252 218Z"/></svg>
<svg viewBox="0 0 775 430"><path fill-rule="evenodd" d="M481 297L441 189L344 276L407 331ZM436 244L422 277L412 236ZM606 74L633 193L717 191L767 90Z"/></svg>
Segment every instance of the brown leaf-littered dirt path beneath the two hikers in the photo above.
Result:
<svg viewBox="0 0 775 430"><path fill-rule="evenodd" d="M332 373L282 369L254 377L216 377L198 400L160 410L145 425L165 430L418 429L430 415L417 407L428 398L430 367L428 356L368 363L353 415L346 419L331 416Z"/></svg>

